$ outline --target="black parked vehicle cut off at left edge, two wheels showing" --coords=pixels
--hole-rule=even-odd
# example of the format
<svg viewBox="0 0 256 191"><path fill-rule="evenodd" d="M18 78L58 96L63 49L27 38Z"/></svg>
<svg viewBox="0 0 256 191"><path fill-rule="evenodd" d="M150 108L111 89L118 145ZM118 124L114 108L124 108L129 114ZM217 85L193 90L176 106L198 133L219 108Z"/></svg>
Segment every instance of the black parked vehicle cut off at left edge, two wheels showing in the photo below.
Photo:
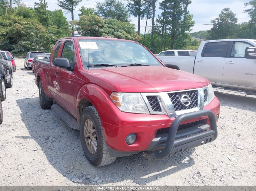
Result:
<svg viewBox="0 0 256 191"><path fill-rule="evenodd" d="M12 88L12 64L0 54L0 98L6 99L6 88Z"/></svg>

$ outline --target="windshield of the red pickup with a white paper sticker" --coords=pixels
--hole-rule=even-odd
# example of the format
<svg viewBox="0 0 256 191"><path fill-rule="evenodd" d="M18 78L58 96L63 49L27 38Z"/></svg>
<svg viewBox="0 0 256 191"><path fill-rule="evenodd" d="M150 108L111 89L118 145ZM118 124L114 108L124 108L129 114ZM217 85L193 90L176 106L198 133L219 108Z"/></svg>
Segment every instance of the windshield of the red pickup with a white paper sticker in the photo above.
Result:
<svg viewBox="0 0 256 191"><path fill-rule="evenodd" d="M143 46L123 40L79 40L79 51L84 68L96 64L147 64L162 66Z"/></svg>

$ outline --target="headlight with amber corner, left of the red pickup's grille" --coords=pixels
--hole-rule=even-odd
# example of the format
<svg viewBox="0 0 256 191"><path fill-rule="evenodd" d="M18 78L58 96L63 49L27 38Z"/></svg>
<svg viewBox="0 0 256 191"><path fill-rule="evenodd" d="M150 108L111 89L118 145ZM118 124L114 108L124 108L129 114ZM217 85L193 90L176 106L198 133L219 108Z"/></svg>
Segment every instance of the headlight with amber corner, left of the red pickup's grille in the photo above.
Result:
<svg viewBox="0 0 256 191"><path fill-rule="evenodd" d="M113 92L110 98L121 111L149 114L148 107L140 93Z"/></svg>

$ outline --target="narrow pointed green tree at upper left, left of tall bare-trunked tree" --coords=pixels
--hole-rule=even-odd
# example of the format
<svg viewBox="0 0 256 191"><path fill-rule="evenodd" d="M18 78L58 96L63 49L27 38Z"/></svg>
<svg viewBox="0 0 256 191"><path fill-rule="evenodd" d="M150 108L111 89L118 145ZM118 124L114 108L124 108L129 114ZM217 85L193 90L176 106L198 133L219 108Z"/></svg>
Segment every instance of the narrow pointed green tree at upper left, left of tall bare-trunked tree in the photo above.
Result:
<svg viewBox="0 0 256 191"><path fill-rule="evenodd" d="M43 26L49 27L52 25L51 11L46 10L47 8L47 2L45 0L40 0L40 2L35 2L34 10L35 10L35 17L38 19L40 23L42 23Z"/></svg>

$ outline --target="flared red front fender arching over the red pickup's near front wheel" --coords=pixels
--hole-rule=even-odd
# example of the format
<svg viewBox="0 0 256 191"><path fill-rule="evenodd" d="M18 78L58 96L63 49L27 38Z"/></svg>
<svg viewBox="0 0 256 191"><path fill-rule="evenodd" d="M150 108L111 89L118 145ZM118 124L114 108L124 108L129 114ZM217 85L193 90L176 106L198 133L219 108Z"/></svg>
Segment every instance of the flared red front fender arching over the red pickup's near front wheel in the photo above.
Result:
<svg viewBox="0 0 256 191"><path fill-rule="evenodd" d="M82 99L87 99L90 101L96 110L101 112L101 103L105 100L109 95L98 85L96 84L85 84L78 91L76 97L76 116L78 116L78 106ZM80 116L78 116L80 118Z"/></svg>

